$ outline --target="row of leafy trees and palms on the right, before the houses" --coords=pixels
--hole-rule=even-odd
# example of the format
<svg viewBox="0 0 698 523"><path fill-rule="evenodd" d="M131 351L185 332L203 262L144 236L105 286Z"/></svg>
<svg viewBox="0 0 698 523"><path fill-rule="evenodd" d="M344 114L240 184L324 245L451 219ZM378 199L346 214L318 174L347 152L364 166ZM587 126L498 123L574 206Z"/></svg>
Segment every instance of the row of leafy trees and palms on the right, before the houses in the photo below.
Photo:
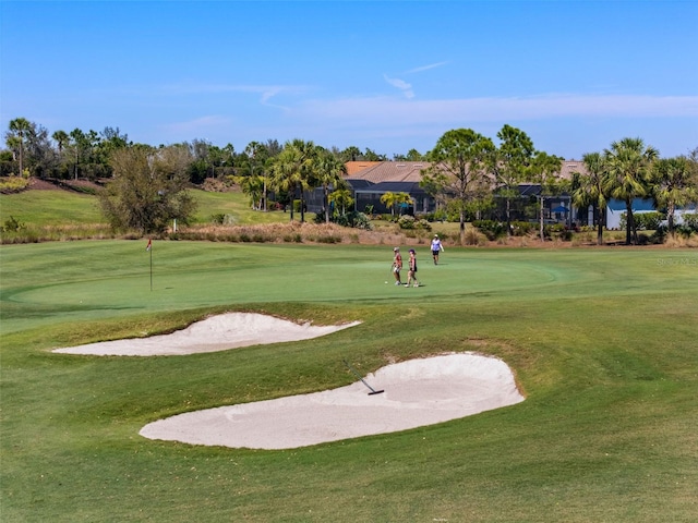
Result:
<svg viewBox="0 0 698 523"><path fill-rule="evenodd" d="M541 240L544 199L564 193L571 195L578 208L594 208L599 244L611 199L625 204L627 244L638 242L633 216L636 198L653 200L667 217L670 234L674 232L676 209L698 203L698 147L687 155L660 158L659 151L641 138L623 138L602 153L585 154L585 169L563 179L563 159L537 150L521 130L504 125L497 138L498 146L471 129L452 130L426 154L431 166L421 185L458 212L461 241L467 218L492 208L495 199L504 202L510 234L512 203L519 197L521 183L540 186L537 205Z"/></svg>

